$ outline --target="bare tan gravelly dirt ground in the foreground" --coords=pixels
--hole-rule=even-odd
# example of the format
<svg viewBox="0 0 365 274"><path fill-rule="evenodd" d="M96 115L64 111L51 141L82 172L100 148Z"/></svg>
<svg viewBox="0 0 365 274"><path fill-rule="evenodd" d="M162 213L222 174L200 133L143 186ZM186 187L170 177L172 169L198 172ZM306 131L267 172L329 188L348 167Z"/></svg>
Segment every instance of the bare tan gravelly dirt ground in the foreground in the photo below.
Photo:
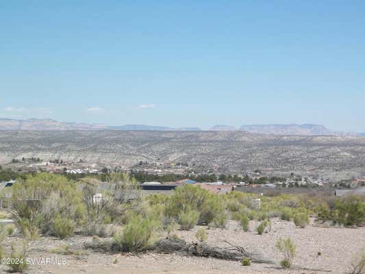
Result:
<svg viewBox="0 0 365 274"><path fill-rule="evenodd" d="M27 273L55 274L114 274L114 273L347 273L353 256L365 248L365 227L336 228L311 225L305 229L297 228L293 223L273 219L272 229L264 235L255 232L257 222L250 223L250 231L243 232L236 221L230 221L227 229L207 230L207 243L219 247L228 240L240 245L247 251L263 253L275 264L252 264L241 266L240 262L179 256L176 254L142 253L109 254L84 249L84 242L91 237L74 236L69 240L42 237L32 242L28 258L59 258L64 264L31 264ZM179 231L177 234L187 242L196 241L194 234ZM161 235L164 236L164 235ZM297 245L297 256L292 269L284 271L279 266L281 254L275 248L278 238L290 237ZM12 243L20 245L21 238L16 236L5 240L5 253L10 252ZM60 253L62 245L68 244L70 252ZM55 250L57 249L57 250ZM318 256L320 252L320 256ZM6 257L6 256L5 256ZM6 273L9 267L1 264L0 273Z"/></svg>

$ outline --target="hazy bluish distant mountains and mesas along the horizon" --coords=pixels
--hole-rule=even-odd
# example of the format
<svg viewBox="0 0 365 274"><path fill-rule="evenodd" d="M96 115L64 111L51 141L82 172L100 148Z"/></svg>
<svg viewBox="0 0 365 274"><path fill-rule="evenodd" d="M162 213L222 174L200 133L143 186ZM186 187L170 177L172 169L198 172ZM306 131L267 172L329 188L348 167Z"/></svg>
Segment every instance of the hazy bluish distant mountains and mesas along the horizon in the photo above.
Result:
<svg viewBox="0 0 365 274"><path fill-rule="evenodd" d="M155 125L120 125L64 123L52 119L0 119L0 130L34 130L34 131L64 131L64 130L155 130L155 131L201 131L199 127L163 127ZM303 135L303 136L365 136L365 133L333 132L323 125L314 124L273 124L273 125L242 125L240 128L230 125L214 125L210 131L244 131L257 134Z"/></svg>

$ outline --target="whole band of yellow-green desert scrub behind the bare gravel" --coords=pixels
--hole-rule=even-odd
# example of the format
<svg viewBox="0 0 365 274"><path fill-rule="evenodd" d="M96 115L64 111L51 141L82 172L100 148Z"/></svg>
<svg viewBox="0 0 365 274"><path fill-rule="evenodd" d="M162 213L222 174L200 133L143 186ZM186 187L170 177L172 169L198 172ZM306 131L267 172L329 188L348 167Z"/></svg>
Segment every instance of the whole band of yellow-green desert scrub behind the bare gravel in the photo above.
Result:
<svg viewBox="0 0 365 274"><path fill-rule="evenodd" d="M172 195L144 197L129 175L108 173L105 180L84 177L72 182L47 173L19 178L8 189L12 191L10 212L17 232L32 239L49 235L63 239L77 231L107 238L98 241L108 242L109 250L140 252L153 249L163 229L168 240L179 240L177 229L190 230L196 225L223 228L229 218L244 231L248 231L250 220L260 221L255 227L258 234L270 231L273 217L294 221L299 227L307 225L310 214L343 225L364 223L364 203L355 198L318 201L235 191L216 195L188 184L175 188ZM204 241L204 236L197 237Z"/></svg>

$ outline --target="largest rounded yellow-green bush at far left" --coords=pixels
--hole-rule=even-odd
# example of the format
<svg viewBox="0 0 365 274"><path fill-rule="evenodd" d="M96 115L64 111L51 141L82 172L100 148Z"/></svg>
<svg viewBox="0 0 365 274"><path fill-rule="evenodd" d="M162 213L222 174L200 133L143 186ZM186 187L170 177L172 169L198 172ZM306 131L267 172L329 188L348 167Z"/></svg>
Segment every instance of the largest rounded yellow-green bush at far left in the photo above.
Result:
<svg viewBox="0 0 365 274"><path fill-rule="evenodd" d="M86 207L76 184L61 175L27 175L12 186L11 214L23 234L57 236L57 218L83 223Z"/></svg>

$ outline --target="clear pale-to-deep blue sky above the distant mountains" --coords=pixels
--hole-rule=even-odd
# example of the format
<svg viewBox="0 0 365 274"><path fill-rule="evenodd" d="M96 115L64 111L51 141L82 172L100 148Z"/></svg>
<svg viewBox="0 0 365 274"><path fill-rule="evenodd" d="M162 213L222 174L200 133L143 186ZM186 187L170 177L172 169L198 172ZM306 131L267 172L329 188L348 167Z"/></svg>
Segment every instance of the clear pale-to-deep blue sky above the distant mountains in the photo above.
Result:
<svg viewBox="0 0 365 274"><path fill-rule="evenodd" d="M4 1L0 117L365 132L365 1Z"/></svg>

